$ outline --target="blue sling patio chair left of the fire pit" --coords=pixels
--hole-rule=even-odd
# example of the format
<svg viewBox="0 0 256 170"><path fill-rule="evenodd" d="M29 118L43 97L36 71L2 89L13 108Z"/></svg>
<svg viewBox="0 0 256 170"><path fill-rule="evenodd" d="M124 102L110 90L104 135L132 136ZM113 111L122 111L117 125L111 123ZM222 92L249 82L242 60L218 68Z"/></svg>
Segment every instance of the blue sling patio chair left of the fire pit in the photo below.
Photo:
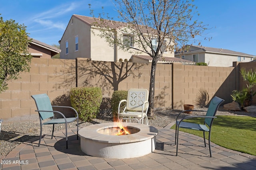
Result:
<svg viewBox="0 0 256 170"><path fill-rule="evenodd" d="M54 125L64 123L66 125L66 149L68 149L68 130L67 130L68 123L77 121L77 139L78 139L78 113L77 113L77 111L73 107L52 106L51 102L50 102L50 98L47 96L47 94L37 94L37 95L32 95L31 97L36 102L36 107L37 107L36 111L38 111L39 118L40 118L40 139L39 139L38 147L40 147L43 125L53 125L53 127L52 127L52 138L53 138ZM62 107L62 108L72 109L76 113L76 117L66 118L65 115L63 113L61 113L60 111L54 111L53 110L54 107L56 107L56 108ZM54 113L59 114L63 118L55 119ZM44 119L49 119L49 118L51 118L49 121L43 122Z"/></svg>

